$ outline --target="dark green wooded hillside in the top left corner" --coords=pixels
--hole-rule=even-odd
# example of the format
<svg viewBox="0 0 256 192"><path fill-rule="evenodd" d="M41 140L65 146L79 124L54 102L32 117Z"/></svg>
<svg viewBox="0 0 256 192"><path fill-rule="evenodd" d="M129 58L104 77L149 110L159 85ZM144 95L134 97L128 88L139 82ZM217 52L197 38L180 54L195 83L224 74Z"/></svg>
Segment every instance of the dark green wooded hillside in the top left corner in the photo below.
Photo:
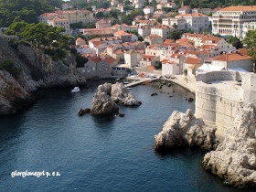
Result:
<svg viewBox="0 0 256 192"><path fill-rule="evenodd" d="M0 0L0 27L8 27L13 21L37 23L37 16L54 11L61 0Z"/></svg>

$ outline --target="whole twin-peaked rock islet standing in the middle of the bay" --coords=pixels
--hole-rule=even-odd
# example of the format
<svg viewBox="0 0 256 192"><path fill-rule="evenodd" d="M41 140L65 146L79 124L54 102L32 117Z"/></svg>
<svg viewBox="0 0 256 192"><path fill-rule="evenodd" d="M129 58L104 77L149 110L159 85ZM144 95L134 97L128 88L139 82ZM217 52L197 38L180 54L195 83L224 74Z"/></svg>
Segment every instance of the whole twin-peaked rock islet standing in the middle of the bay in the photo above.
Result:
<svg viewBox="0 0 256 192"><path fill-rule="evenodd" d="M104 83L98 87L93 97L91 114L118 114L119 107L116 103L127 106L138 106L142 102L137 101L133 93L123 86L123 83Z"/></svg>

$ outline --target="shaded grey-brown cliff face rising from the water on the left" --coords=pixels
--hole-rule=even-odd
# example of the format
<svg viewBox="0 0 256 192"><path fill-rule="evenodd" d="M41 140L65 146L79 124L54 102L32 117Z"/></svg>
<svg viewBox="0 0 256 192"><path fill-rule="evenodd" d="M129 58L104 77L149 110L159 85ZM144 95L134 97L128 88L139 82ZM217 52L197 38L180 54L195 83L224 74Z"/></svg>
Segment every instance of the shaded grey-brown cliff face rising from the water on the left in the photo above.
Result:
<svg viewBox="0 0 256 192"><path fill-rule="evenodd" d="M0 66L6 59L14 62L19 75L14 78L0 68L0 114L15 113L33 101L33 91L37 89L86 82L86 77L76 69L76 61L69 54L64 64L61 60L53 61L38 48L19 45L14 49L0 31Z"/></svg>

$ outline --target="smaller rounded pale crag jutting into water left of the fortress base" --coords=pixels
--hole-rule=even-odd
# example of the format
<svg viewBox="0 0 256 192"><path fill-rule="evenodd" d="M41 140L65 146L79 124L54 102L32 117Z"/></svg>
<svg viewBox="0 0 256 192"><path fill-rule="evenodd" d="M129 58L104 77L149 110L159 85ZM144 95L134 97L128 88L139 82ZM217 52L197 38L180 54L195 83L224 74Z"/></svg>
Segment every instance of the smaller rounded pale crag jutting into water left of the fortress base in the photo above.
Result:
<svg viewBox="0 0 256 192"><path fill-rule="evenodd" d="M215 131L216 128L206 126L191 110L186 113L175 111L164 124L162 132L155 135L155 149L161 151L190 145L210 150L215 144Z"/></svg>

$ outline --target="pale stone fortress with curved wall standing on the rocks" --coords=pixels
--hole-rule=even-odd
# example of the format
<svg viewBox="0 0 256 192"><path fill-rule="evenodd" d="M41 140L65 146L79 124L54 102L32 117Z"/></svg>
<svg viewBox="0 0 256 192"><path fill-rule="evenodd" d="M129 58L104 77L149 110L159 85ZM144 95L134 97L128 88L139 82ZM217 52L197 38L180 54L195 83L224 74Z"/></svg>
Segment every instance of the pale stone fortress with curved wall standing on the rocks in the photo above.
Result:
<svg viewBox="0 0 256 192"><path fill-rule="evenodd" d="M239 71L211 71L197 74L196 116L217 125L223 139L241 103L256 101L256 75Z"/></svg>

